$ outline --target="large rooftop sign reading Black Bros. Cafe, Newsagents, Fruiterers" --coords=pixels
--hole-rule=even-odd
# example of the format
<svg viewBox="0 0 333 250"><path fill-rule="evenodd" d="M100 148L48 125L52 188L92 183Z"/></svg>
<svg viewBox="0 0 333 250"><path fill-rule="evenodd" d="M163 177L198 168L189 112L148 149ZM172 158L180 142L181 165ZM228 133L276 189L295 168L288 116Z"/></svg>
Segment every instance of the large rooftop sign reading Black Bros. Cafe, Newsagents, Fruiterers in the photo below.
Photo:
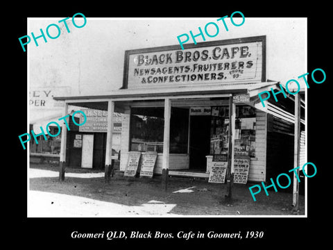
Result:
<svg viewBox="0 0 333 250"><path fill-rule="evenodd" d="M123 88L266 81L266 37L126 51Z"/></svg>

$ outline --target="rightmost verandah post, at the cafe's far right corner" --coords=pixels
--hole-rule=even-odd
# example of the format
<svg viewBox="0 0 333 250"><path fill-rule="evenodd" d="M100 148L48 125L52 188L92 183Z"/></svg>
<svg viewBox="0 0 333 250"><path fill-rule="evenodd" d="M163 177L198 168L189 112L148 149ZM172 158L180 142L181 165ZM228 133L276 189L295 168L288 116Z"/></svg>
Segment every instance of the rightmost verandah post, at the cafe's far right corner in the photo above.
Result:
<svg viewBox="0 0 333 250"><path fill-rule="evenodd" d="M293 142L293 167L296 168L300 165L300 94L295 94L295 130ZM293 210L295 212L298 211L299 183L297 176L299 176L299 173L299 168L296 169L296 173L293 172Z"/></svg>

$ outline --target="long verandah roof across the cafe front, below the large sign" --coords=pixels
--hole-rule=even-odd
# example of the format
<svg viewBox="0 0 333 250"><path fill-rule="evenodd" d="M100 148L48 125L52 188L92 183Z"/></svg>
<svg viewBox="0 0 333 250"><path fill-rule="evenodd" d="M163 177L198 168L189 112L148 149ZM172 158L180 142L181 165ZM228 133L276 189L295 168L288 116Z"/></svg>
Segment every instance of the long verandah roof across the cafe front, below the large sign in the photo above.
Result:
<svg viewBox="0 0 333 250"><path fill-rule="evenodd" d="M277 81L268 81L261 83L239 83L239 84L220 84L220 85L173 85L169 87L151 87L151 88L132 88L132 89L121 89L114 90L105 94L95 94L95 95L85 95L85 96L70 96L70 97L53 97L58 101L65 101L69 105L80 106L85 108L92 108L98 110L108 110L108 100L112 101L133 101L140 99L164 99L167 97L173 97L175 99L182 98L198 98L204 97L219 97L224 95L227 97L228 94L250 94L251 105L255 106L259 110L268 112L268 108L263 108L262 103L259 100L257 94L263 91L276 90L275 92L280 91L280 85ZM286 92L286 91L285 91ZM287 94L287 99L279 99L279 103L276 105L280 106L281 104L288 101L293 103L294 98L291 94ZM282 95L282 94L281 94ZM273 97L271 97L273 99ZM270 106L275 105L275 102L270 100ZM272 104L273 103L273 104ZM304 104L304 103L303 103ZM287 113L290 113L290 117L293 117L293 108L290 106L290 103L282 109ZM302 106L304 108L304 105ZM268 112L269 113L269 112ZM293 118L292 118L293 119ZM289 119L290 120L290 119ZM305 123L302 120L302 123Z"/></svg>

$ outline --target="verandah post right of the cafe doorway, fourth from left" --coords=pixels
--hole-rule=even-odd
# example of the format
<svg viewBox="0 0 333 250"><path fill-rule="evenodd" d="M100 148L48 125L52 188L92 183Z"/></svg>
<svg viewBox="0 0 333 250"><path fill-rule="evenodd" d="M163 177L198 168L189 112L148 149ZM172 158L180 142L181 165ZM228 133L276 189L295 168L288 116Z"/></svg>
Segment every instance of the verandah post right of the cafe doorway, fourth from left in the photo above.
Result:
<svg viewBox="0 0 333 250"><path fill-rule="evenodd" d="M227 169L227 194L225 199L232 199L232 184L234 183L234 124L235 124L236 106L232 103L232 96L229 97L229 145L228 145L228 169Z"/></svg>

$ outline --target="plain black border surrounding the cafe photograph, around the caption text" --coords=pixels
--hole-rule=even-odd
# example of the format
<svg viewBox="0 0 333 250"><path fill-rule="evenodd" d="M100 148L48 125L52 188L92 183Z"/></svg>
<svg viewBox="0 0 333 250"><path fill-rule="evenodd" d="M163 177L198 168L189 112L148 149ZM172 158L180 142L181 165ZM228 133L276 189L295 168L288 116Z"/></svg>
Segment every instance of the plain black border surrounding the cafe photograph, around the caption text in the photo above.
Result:
<svg viewBox="0 0 333 250"><path fill-rule="evenodd" d="M289 1L290 2L290 1ZM128 247L160 248L173 244L179 247L197 246L222 249L224 247L303 247L309 243L325 245L331 225L331 195L330 173L332 170L332 139L330 99L330 66L332 58L332 21L330 20L329 2L310 1L291 6L282 1L266 2L265 4L251 1L248 6L240 1L226 5L225 1L207 3L193 1L178 1L176 3L143 1L117 3L111 1L92 1L69 6L67 2L24 3L6 7L8 18L3 19L2 46L8 56L3 58L6 92L11 93L11 101L6 101L5 109L10 117L4 119L9 139L6 144L11 146L3 149L3 167L8 173L3 176L3 204L6 214L3 214L3 228L6 231L5 240L12 245L24 243L27 247L45 249L48 247L108 247L112 249L120 244ZM308 18L308 71L321 68L326 72L325 83L316 84L308 78L309 90L307 100L308 128L308 162L314 163L318 169L316 176L308 178L308 217L307 218L46 218L35 219L26 217L26 151L18 140L18 135L26 133L27 108L27 70L26 53L22 51L19 37L26 35L27 17L71 17L82 12L85 17L223 17L234 11L241 11L245 17L307 17ZM168 35L168 34L165 34ZM283 35L283 34L281 34ZM288 40L289 38L285 38ZM330 44L329 44L330 43ZM286 62L293 63L293 62ZM6 70L8 69L8 70ZM12 72L12 73L10 73ZM304 72L305 73L305 72ZM309 75L309 76L310 76ZM9 87L9 90L8 90ZM6 94L3 92L3 100ZM8 114L6 113L6 114ZM11 117L12 115L12 117ZM9 128L9 129L8 129ZM3 133L5 130L3 130ZM8 159L8 160L6 160ZM6 177L5 177L6 176ZM10 178L8 176L11 176ZM8 197L6 197L8 195ZM82 233L100 233L101 231L161 231L173 233L178 231L200 231L221 233L264 231L262 239L242 240L105 240L83 239L74 240L72 231Z"/></svg>

